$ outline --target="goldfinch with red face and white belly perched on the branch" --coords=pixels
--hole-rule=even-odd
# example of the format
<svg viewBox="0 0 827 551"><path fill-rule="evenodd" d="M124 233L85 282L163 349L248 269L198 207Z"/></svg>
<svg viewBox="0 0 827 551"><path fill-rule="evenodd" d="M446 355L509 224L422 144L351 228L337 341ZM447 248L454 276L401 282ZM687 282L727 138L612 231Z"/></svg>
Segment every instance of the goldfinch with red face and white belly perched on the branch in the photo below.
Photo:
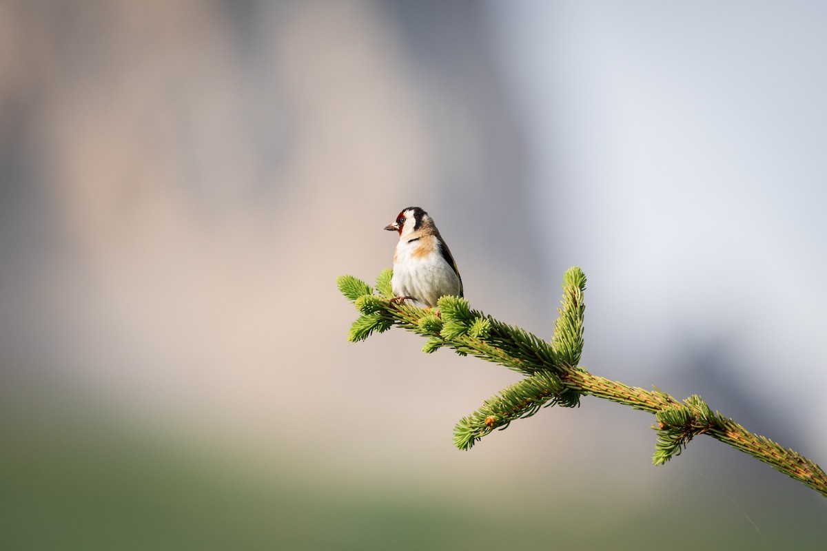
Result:
<svg viewBox="0 0 827 551"><path fill-rule="evenodd" d="M410 298L433 307L445 295L462 296L457 263L428 212L408 207L385 230L399 232L390 280L394 300Z"/></svg>

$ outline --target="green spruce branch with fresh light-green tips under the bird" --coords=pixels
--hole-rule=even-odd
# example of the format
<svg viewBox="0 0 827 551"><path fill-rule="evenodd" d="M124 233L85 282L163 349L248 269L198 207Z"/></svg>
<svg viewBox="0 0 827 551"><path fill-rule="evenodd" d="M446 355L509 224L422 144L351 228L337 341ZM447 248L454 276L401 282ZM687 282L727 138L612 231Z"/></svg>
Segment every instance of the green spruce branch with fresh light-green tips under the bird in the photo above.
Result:
<svg viewBox="0 0 827 551"><path fill-rule="evenodd" d="M454 428L457 448L471 449L495 429L504 430L512 421L533 416L542 407L579 406L581 395L590 395L655 415L655 465L680 455L696 436L709 435L827 496L827 475L816 463L770 439L753 435L734 420L713 412L699 396L678 401L657 387L653 391L629 387L581 368L578 363L583 349L586 275L580 268L569 268L563 275L561 307L550 341L471 310L463 298L440 298L438 311L394 301L392 275L390 269L380 273L376 280L378 294L352 276L337 279L339 290L361 314L351 325L348 340L366 340L374 331L382 333L398 325L428 339L423 346L428 354L447 347L525 375L459 420Z"/></svg>

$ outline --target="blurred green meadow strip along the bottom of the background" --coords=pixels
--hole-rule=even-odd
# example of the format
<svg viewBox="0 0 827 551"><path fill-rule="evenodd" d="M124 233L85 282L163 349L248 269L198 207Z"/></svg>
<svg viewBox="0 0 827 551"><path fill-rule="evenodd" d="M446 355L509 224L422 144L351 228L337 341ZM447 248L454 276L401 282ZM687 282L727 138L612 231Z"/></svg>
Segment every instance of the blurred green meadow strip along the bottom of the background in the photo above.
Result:
<svg viewBox="0 0 827 551"><path fill-rule="evenodd" d="M251 468L60 398L0 396L0 549L824 549L820 501L767 503L767 517L743 504L762 511L750 520L705 485L640 511L610 490L480 501L336 477L336 450L313 459L319 476L297 450Z"/></svg>

